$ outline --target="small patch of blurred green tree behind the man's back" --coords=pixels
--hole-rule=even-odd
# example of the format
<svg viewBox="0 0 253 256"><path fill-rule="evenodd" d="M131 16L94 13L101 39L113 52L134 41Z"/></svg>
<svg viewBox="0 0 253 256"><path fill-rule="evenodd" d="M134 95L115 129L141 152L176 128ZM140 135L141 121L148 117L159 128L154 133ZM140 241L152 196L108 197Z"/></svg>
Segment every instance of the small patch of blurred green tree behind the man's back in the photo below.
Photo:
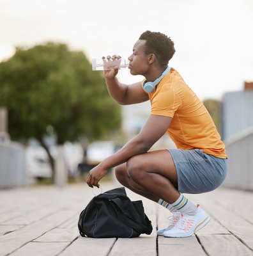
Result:
<svg viewBox="0 0 253 256"><path fill-rule="evenodd" d="M211 118L213 118L213 122L215 123L218 132L221 132L221 102L215 99L206 99L203 100L203 104L210 113Z"/></svg>

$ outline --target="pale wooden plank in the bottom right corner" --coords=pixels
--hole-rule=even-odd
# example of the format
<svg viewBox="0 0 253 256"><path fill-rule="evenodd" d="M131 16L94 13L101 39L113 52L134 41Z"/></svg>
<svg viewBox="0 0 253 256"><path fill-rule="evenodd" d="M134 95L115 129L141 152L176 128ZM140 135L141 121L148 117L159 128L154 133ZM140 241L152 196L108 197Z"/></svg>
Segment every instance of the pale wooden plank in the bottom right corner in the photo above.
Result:
<svg viewBox="0 0 253 256"><path fill-rule="evenodd" d="M204 250L209 256L228 255L228 256L252 256L249 250L233 235L200 235L198 236Z"/></svg>

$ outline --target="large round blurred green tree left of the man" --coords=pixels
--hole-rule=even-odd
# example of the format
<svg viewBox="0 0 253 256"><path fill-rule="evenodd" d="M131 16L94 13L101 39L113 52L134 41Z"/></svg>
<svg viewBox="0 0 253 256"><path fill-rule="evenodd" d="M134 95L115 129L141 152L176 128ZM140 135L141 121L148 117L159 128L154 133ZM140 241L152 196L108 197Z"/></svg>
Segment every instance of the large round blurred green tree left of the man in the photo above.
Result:
<svg viewBox="0 0 253 256"><path fill-rule="evenodd" d="M83 52L65 44L19 47L1 62L0 106L8 109L11 138L40 141L53 175L54 160L43 141L48 127L63 143L81 136L100 138L121 124L121 109L109 97L102 73L91 70Z"/></svg>

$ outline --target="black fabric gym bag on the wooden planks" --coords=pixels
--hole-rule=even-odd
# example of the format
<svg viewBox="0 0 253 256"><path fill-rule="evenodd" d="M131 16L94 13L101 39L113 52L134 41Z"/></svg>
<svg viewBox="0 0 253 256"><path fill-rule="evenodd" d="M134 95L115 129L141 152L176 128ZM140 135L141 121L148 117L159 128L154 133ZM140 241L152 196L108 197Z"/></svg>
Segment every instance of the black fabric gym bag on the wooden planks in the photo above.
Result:
<svg viewBox="0 0 253 256"><path fill-rule="evenodd" d="M153 230L142 201L132 202L125 188L95 196L81 212L78 228L81 236L97 238L137 237Z"/></svg>

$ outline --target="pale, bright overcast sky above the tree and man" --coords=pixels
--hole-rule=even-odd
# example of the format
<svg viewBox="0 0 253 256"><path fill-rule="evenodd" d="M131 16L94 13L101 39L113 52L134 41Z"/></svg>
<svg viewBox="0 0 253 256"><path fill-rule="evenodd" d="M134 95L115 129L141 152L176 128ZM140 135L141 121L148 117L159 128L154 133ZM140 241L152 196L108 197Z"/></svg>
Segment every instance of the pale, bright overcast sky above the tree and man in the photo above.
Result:
<svg viewBox="0 0 253 256"><path fill-rule="evenodd" d="M142 32L174 41L174 67L201 100L253 81L252 0L0 0L0 61L15 47L61 42L88 59L127 58ZM96 71L94 71L96 72ZM143 77L119 70L121 83Z"/></svg>

